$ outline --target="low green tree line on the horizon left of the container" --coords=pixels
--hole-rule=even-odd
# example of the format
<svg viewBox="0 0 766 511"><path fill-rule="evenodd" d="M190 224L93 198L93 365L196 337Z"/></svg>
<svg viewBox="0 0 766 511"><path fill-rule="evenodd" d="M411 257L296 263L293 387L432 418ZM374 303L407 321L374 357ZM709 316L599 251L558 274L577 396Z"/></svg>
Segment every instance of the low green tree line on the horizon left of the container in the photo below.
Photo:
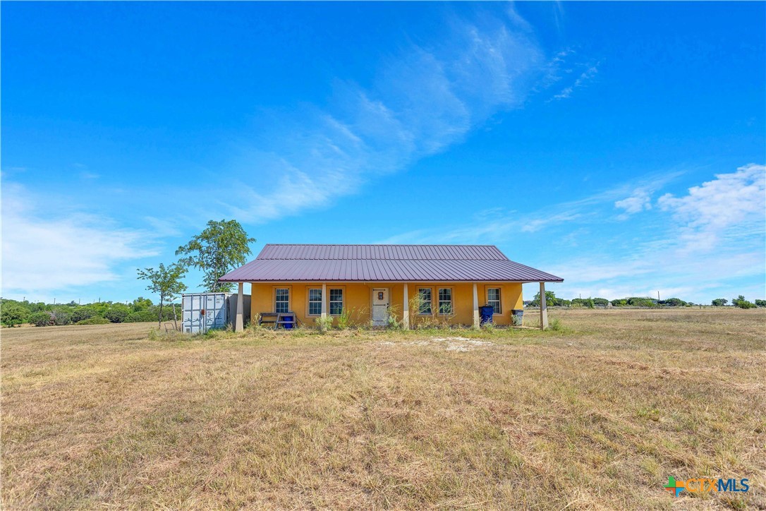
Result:
<svg viewBox="0 0 766 511"><path fill-rule="evenodd" d="M28 300L2 299L0 304L0 323L5 326L17 326L31 323L34 326L54 325L101 325L106 323L139 323L146 321L172 321L173 304L165 306L159 315L159 306L149 298L139 296L132 303L97 302L79 305L70 303L34 303ZM179 304L175 304L180 313Z"/></svg>

